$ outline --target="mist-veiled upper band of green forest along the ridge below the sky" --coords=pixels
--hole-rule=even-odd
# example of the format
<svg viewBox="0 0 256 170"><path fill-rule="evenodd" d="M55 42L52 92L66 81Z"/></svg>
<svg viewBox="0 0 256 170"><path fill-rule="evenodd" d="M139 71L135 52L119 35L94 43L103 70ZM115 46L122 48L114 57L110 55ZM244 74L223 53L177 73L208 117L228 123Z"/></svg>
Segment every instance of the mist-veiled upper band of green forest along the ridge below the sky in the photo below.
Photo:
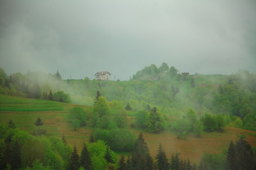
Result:
<svg viewBox="0 0 256 170"><path fill-rule="evenodd" d="M186 77L182 78L182 75ZM67 81L61 79L58 71L48 75L31 71L26 75L6 75L1 68L0 93L87 106L96 105L102 95L103 103L108 103L112 109L140 111L155 106L162 115L176 117L185 116L184 110L193 108L198 118L205 113L230 116L230 119L224 119L225 125L219 122L218 127L213 125L209 130L220 130L221 126L256 130L254 74L238 70L233 75L187 75L166 63L159 68L155 64L145 66L128 82L97 81L88 77Z"/></svg>

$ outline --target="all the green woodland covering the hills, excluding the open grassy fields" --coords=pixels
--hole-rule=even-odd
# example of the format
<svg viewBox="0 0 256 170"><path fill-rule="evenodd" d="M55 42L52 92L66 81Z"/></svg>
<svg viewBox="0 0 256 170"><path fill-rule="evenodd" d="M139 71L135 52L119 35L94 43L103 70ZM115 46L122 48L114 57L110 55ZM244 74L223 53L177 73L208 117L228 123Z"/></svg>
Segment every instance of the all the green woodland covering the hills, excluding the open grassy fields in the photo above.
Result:
<svg viewBox="0 0 256 170"><path fill-rule="evenodd" d="M76 131L91 127L90 140L81 152L62 138L40 130L38 117L34 134L16 128L15 122L0 122L1 169L60 170L239 170L255 169L256 149L241 135L222 153L204 153L200 163L166 156L160 143L152 157L142 133L159 134L171 129L177 139L204 132L225 133L225 127L256 131L256 76L246 70L232 75L179 73L166 63L137 71L130 81L63 80L54 74L28 71L6 75L0 68L0 93L89 106L72 107L67 114ZM2 109L2 110L1 110ZM4 112L4 107L0 110ZM11 109L11 108L8 108ZM45 109L45 108L44 108ZM132 112L132 117L127 112ZM175 119L175 121L170 121ZM128 152L127 155L117 154Z"/></svg>

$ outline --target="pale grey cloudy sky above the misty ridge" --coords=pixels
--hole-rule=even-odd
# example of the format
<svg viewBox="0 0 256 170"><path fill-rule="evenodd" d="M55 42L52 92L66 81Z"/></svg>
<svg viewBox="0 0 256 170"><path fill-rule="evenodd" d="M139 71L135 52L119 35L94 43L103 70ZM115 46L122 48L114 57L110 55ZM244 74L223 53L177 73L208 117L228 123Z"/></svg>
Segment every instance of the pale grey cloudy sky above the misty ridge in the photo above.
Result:
<svg viewBox="0 0 256 170"><path fill-rule="evenodd" d="M255 0L0 0L0 67L121 80L162 62L180 73L256 73Z"/></svg>

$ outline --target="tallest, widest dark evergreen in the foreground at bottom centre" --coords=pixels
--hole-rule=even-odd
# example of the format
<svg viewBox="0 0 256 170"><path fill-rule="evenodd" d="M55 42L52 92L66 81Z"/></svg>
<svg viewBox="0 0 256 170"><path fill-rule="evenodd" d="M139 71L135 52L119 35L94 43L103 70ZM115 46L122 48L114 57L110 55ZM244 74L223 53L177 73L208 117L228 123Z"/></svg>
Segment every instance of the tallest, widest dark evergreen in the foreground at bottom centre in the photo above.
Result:
<svg viewBox="0 0 256 170"><path fill-rule="evenodd" d="M148 150L147 143L144 141L142 133L139 134L135 142L132 157L131 157L132 170L152 170L153 158Z"/></svg>

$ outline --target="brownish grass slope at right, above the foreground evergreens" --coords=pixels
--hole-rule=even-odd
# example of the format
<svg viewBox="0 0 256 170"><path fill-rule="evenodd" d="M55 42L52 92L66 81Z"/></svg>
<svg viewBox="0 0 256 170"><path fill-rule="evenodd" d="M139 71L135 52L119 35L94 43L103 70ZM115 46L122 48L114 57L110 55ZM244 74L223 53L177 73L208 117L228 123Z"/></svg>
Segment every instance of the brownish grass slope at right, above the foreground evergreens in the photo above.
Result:
<svg viewBox="0 0 256 170"><path fill-rule="evenodd" d="M140 131L134 131L137 135ZM188 134L187 139L177 139L176 133L172 131L164 131L158 134L149 134L147 132L142 132L144 139L148 144L150 154L155 158L157 155L157 148L159 143L161 143L166 152L167 158L170 159L172 154L176 152L180 153L180 158L190 159L193 163L199 164L200 159L204 152L219 154L223 149L229 147L231 140L237 141L239 139L238 135L247 134L248 132L256 134L244 129L230 128L224 129L224 132L204 132L202 137L194 137L193 134ZM252 146L256 146L256 137L252 135L246 135L246 140Z"/></svg>

